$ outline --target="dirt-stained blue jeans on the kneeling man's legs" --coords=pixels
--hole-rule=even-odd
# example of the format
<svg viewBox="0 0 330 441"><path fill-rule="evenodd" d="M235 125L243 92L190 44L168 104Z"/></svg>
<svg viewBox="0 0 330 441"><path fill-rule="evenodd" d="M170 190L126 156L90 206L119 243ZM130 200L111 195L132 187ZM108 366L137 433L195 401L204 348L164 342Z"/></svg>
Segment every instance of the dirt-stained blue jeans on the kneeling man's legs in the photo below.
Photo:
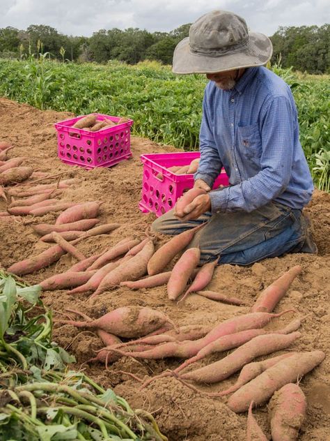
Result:
<svg viewBox="0 0 330 441"><path fill-rule="evenodd" d="M299 252L307 234L301 210L274 202L251 213L207 212L188 222L179 221L171 210L152 223L152 230L176 235L201 223L205 226L196 232L188 248L201 248L202 264L220 256L219 264L249 265L267 257Z"/></svg>

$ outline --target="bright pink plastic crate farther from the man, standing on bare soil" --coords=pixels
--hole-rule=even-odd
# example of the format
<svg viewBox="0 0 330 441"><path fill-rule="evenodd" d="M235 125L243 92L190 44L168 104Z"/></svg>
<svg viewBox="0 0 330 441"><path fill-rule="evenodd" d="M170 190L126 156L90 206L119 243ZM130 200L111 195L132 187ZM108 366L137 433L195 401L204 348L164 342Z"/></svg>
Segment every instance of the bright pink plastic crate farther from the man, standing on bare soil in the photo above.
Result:
<svg viewBox="0 0 330 441"><path fill-rule="evenodd" d="M97 121L105 118L118 122L120 117L111 117L94 113ZM118 126L105 127L97 132L89 132L84 128L72 128L74 123L83 117L66 119L54 124L57 130L58 158L69 165L79 165L86 169L94 167L111 167L123 159L132 156L130 150L129 119Z"/></svg>

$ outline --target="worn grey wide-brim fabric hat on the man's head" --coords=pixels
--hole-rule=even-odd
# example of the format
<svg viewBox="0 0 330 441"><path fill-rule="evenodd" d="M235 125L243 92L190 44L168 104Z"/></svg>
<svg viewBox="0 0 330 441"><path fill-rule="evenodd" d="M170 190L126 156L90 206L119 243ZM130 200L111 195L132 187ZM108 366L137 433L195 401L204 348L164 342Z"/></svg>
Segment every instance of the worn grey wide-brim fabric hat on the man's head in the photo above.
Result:
<svg viewBox="0 0 330 441"><path fill-rule="evenodd" d="M273 53L263 33L249 32L242 17L213 10L191 24L189 37L175 47L173 72L216 73L264 66Z"/></svg>

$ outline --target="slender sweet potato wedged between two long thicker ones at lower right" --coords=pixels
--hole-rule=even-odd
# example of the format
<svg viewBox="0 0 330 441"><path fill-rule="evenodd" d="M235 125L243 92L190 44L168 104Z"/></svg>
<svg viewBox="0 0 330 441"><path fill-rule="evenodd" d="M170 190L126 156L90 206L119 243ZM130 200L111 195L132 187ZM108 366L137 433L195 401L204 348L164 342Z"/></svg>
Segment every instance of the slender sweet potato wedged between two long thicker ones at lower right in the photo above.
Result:
<svg viewBox="0 0 330 441"><path fill-rule="evenodd" d="M253 363L248 363L243 366L242 371L239 373L239 377L233 386L228 387L223 391L219 391L214 396L224 396L228 394L233 394L233 392L237 391L239 387L242 387L244 384L253 380L253 378L258 377L260 373L266 371L266 369L274 366L278 361L282 359L291 357L293 354L297 354L297 352L288 352L287 354L278 355L277 357L272 357L270 359L265 359L262 361L253 361Z"/></svg>

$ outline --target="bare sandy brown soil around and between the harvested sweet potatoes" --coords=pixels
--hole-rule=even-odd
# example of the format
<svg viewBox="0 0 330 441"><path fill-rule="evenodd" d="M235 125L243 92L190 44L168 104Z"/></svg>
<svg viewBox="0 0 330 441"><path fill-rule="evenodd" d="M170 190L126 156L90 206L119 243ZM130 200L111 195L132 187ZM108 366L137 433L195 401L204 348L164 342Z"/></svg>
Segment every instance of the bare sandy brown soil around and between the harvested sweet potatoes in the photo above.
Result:
<svg viewBox="0 0 330 441"><path fill-rule="evenodd" d="M61 196L64 201L85 202L102 201L99 216L102 223L118 222L121 227L111 234L92 237L81 241L77 248L86 256L109 248L123 237L142 238L155 219L154 214L142 214L138 207L141 197L141 177L143 166L139 156L143 153L174 151L172 146L155 144L141 137L132 137L133 158L124 160L111 168L84 170L61 163L57 157L56 121L68 119L73 115L65 112L40 111L29 105L18 104L7 99L0 99L0 140L8 141L15 147L8 156L27 156L24 165L31 165L35 170L58 174L64 178L74 177L78 184L66 189ZM54 181L54 180L53 180ZM47 182L47 181L45 181ZM48 181L50 182L50 181ZM4 201L0 202L0 211L6 210ZM228 317L246 313L258 293L272 283L283 271L296 264L301 264L303 271L294 280L286 297L275 312L294 308L295 313L288 313L275 319L269 329L283 327L292 317L308 315L301 326L301 338L290 350L323 350L327 358L300 380L301 389L307 396L308 412L301 429L299 440L326 440L330 431L330 358L329 358L329 286L330 286L330 195L315 190L311 204L306 208L313 220L313 237L318 247L317 255L288 254L275 259L267 259L251 267L238 267L225 264L218 267L207 289L218 290L225 294L239 297L248 306L230 306L208 300L194 294L186 302L175 304L168 300L166 287L132 291L127 287L104 292L94 304L88 304L87 294L68 294L67 291L45 292L42 299L54 310L54 318L65 318L65 308L75 308L91 317L99 317L119 306L150 306L166 313L176 324L215 324ZM38 240L31 225L54 223L57 214L48 214L42 218L32 216L17 217L14 220L0 220L1 244L0 262L4 268L35 255L49 245ZM158 237L157 246L164 242ZM64 255L56 263L35 274L24 276L29 283L38 283L43 279L67 270L76 261ZM77 316L70 314L70 317ZM136 360L123 357L108 369L102 364L86 363L95 357L95 351L102 347L100 339L91 331L76 329L70 325L56 324L54 340L66 347L77 358L73 368L84 368L88 375L104 387L112 387L116 394L127 399L132 408L143 408L153 412L160 430L171 441L241 441L246 437L246 414L235 414L226 406L226 398L208 398L203 393L193 391L175 378L162 378L140 390L140 384L131 376L149 378L165 369L175 368L180 359L158 361ZM205 366L223 357L215 354L198 366ZM237 375L221 384L198 386L198 390L218 391L233 384ZM254 411L256 419L270 438L267 421L267 405Z"/></svg>

